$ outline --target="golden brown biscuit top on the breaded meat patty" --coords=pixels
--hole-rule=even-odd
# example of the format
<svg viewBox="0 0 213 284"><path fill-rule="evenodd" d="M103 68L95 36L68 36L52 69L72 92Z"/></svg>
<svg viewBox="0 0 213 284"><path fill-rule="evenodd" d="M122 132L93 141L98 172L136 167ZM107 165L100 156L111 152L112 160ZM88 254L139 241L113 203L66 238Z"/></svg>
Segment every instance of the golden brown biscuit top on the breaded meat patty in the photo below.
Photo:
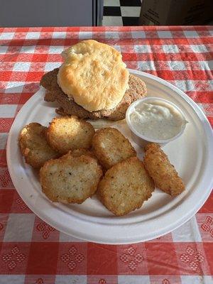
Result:
<svg viewBox="0 0 213 284"><path fill-rule="evenodd" d="M119 51L96 40L84 40L62 52L58 84L88 111L113 109L128 87L129 72Z"/></svg>

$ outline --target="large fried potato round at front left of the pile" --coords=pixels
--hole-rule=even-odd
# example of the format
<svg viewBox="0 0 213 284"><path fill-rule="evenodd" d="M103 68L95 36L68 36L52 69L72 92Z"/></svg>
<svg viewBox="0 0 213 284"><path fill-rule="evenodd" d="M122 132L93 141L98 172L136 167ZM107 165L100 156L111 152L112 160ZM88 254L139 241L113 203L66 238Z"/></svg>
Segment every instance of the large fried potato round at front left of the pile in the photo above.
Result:
<svg viewBox="0 0 213 284"><path fill-rule="evenodd" d="M53 202L82 203L97 190L102 168L87 155L49 160L40 169L40 184Z"/></svg>

